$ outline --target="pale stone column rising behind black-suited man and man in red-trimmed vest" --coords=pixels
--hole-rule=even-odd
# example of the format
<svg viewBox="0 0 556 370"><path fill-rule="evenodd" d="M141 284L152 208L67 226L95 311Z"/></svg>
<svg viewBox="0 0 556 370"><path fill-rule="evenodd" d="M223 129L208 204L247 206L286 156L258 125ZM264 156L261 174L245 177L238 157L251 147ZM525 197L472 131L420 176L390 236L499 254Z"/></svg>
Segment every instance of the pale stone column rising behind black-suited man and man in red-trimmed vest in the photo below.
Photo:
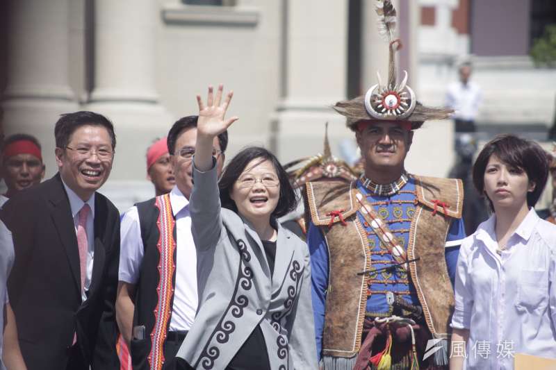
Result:
<svg viewBox="0 0 556 370"><path fill-rule="evenodd" d="M113 121L116 155L105 192L116 205L130 204L153 196L145 153L174 123L155 87L160 11L158 1L97 0L94 12L95 78L86 107Z"/></svg>

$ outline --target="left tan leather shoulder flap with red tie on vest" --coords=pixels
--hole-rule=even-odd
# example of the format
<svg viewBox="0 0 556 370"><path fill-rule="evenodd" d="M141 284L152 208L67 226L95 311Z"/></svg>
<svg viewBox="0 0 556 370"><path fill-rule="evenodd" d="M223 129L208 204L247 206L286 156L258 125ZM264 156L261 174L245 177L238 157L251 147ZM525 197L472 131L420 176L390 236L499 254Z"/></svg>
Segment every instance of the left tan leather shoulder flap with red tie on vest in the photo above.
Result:
<svg viewBox="0 0 556 370"><path fill-rule="evenodd" d="M316 181L306 183L306 200L311 221L316 226L334 224L353 215L358 207L352 190L355 181Z"/></svg>

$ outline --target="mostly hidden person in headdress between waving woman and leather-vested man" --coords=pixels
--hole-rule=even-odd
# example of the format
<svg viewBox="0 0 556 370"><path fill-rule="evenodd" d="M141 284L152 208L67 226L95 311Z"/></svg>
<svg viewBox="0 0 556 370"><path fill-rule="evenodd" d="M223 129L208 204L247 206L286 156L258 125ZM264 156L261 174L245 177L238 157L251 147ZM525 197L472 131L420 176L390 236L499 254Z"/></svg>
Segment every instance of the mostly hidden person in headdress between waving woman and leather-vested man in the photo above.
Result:
<svg viewBox="0 0 556 370"><path fill-rule="evenodd" d="M301 165L297 169L298 165ZM286 163L284 169L288 171L290 183L296 192L305 192L305 184L309 181L325 181L325 180L344 180L350 183L357 180L357 175L354 169L350 167L345 161L340 160L330 150L328 142L328 123L325 126L325 146L322 153L313 155L312 157L305 157L299 160L293 160ZM280 219L282 226L288 228L297 236L302 239L305 238L307 233L306 228L306 210L303 210L303 205L298 207L297 210L292 212L291 215L286 215Z"/></svg>

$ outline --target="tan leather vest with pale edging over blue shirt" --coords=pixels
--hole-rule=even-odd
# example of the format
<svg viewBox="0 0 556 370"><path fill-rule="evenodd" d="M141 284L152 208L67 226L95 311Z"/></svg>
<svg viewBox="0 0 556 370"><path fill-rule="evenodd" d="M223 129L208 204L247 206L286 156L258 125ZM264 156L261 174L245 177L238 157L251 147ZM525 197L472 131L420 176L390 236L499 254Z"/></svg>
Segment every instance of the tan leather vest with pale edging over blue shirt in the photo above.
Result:
<svg viewBox="0 0 556 370"><path fill-rule="evenodd" d="M445 337L454 309L445 239L453 219L461 218L463 185L458 179L412 177L418 203L409 229L407 258L418 260L409 263L410 284L416 289L430 332ZM322 354L341 358L352 358L361 348L369 277L357 272L371 268L368 238L357 217L358 192L355 182L306 186L311 221L319 226L329 251Z"/></svg>

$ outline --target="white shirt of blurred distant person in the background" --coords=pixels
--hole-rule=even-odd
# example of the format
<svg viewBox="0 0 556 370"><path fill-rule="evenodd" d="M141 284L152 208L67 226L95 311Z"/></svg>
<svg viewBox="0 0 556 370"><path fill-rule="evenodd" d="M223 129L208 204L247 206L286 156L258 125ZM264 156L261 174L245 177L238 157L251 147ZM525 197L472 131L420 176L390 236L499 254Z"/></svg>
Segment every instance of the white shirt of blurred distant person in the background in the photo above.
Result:
<svg viewBox="0 0 556 370"><path fill-rule="evenodd" d="M453 110L454 117L466 121L475 121L482 100L481 88L469 81L466 85L458 81L448 86L446 105Z"/></svg>

